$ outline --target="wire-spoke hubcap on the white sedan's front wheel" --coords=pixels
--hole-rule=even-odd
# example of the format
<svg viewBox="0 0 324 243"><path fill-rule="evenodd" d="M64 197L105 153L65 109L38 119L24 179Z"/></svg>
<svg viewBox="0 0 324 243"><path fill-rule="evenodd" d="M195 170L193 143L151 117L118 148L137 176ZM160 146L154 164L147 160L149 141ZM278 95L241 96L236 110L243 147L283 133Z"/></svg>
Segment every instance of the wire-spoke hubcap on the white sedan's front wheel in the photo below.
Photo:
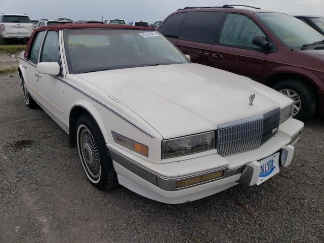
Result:
<svg viewBox="0 0 324 243"><path fill-rule="evenodd" d="M100 176L100 157L92 134L87 128L80 132L80 151L88 172L94 178Z"/></svg>

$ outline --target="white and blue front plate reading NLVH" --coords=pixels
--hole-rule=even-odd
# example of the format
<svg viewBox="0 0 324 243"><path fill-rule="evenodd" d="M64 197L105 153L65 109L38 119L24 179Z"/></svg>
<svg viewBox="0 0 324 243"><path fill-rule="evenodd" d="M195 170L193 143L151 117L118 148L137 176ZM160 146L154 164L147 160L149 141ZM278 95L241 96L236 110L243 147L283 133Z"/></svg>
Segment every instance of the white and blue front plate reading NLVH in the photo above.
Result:
<svg viewBox="0 0 324 243"><path fill-rule="evenodd" d="M280 153L277 152L259 161L261 164L261 170L257 185L260 185L279 172L279 155Z"/></svg>

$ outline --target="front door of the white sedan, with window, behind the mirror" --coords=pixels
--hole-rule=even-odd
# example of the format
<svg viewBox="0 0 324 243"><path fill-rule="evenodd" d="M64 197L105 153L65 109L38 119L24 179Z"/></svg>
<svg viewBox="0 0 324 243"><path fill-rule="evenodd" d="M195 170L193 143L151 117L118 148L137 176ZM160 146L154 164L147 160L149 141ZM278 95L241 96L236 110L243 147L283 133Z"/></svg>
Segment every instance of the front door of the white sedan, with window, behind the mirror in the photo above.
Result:
<svg viewBox="0 0 324 243"><path fill-rule="evenodd" d="M60 62L59 37L57 31L48 31L43 42L39 62ZM62 70L61 70L62 73ZM55 75L38 73L36 87L39 102L55 118L63 120L64 83Z"/></svg>

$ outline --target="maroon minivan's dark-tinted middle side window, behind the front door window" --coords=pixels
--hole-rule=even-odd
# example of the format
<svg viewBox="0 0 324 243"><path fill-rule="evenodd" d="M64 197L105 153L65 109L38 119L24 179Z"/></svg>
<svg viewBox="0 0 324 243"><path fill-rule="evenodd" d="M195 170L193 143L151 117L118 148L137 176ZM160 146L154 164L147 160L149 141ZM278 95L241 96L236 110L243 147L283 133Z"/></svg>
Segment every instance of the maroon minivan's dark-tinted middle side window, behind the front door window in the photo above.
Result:
<svg viewBox="0 0 324 243"><path fill-rule="evenodd" d="M181 26L179 39L191 42L214 44L218 25L223 13L190 12Z"/></svg>

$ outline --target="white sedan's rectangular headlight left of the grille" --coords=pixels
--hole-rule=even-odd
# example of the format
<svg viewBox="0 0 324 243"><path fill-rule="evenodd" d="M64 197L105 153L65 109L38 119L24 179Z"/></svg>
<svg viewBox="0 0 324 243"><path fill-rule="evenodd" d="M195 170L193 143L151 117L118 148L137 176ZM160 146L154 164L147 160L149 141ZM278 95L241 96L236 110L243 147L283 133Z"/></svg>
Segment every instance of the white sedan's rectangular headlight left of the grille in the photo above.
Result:
<svg viewBox="0 0 324 243"><path fill-rule="evenodd" d="M178 157L215 148L215 132L162 141L162 158Z"/></svg>

